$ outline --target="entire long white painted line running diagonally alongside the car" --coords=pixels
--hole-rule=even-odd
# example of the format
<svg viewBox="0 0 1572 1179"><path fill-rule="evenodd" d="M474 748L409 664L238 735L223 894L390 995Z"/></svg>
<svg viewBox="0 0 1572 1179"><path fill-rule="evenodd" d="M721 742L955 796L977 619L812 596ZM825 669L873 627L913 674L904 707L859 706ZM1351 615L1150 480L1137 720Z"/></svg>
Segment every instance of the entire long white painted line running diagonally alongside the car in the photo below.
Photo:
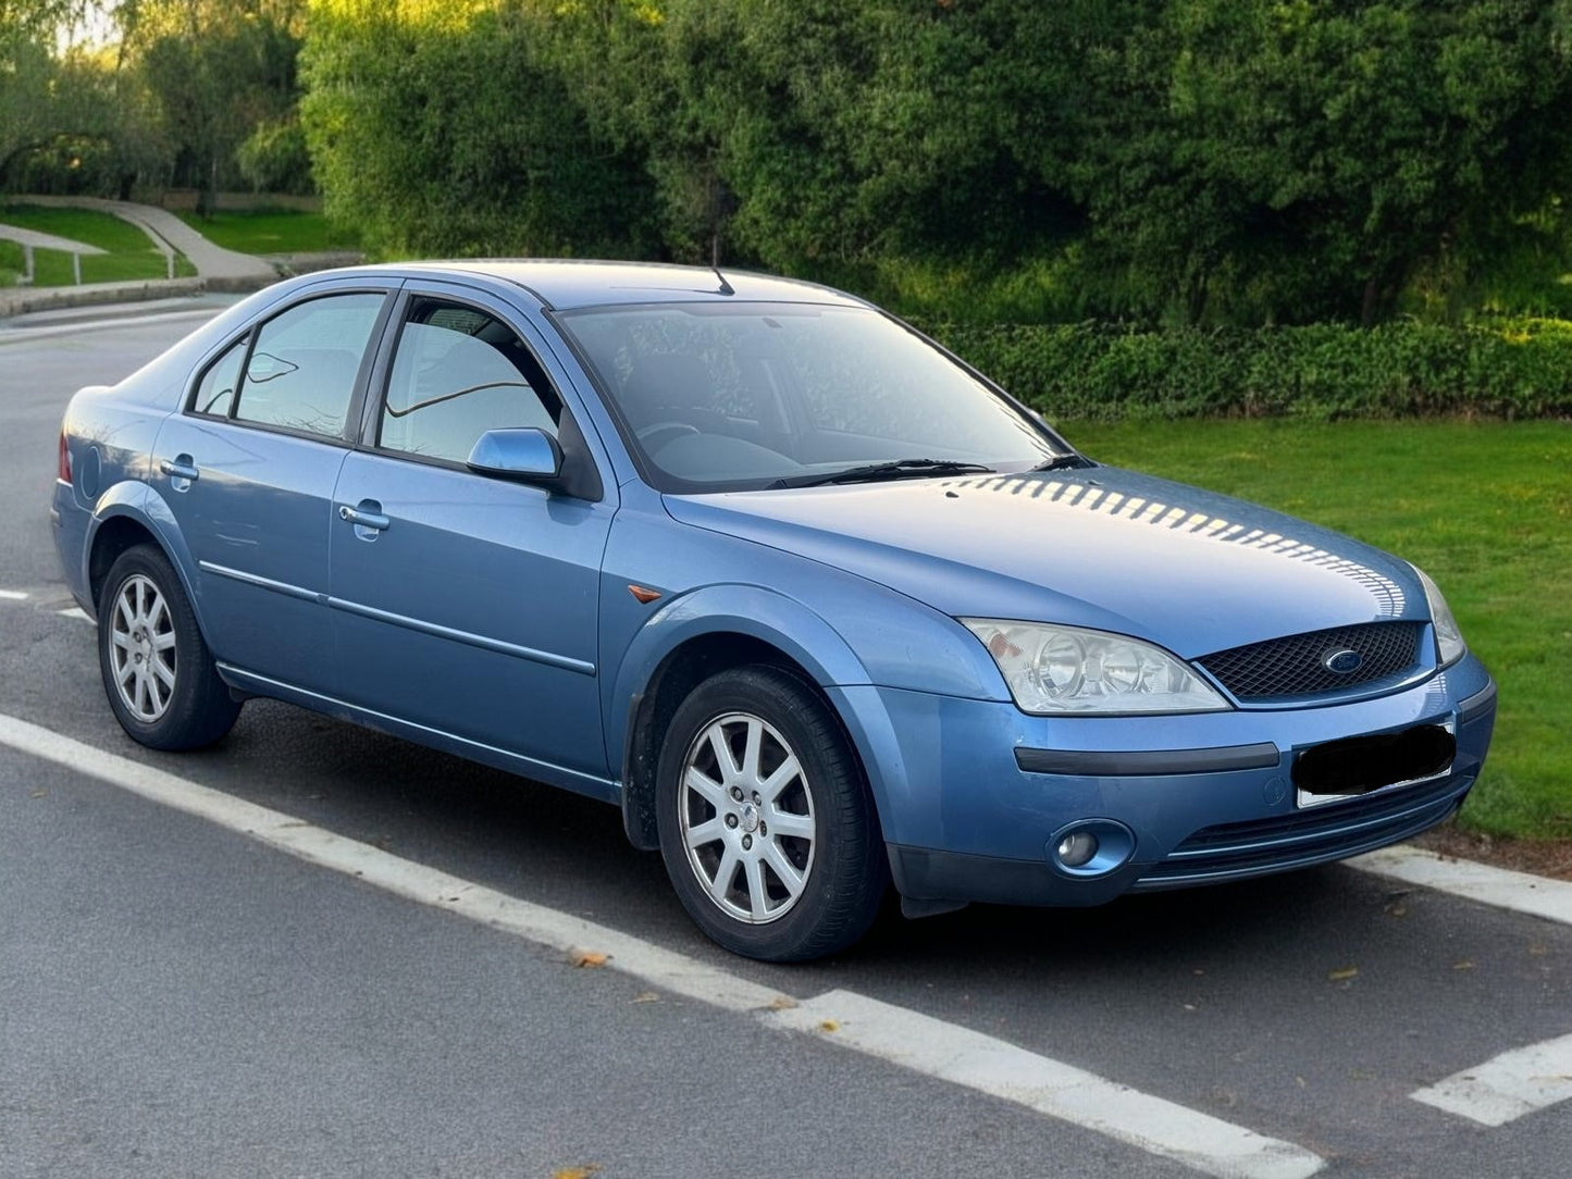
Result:
<svg viewBox="0 0 1572 1179"><path fill-rule="evenodd" d="M1005 1041L847 990L832 990L803 1003L630 934L402 860L16 717L0 714L0 745L127 789L418 904L566 954L586 949L607 954L607 965L613 970L701 1003L751 1014L775 1028L819 1033L824 1022L833 1019L841 1031L830 1038L832 1042L1003 1097L1206 1174L1302 1179L1324 1166L1320 1157L1292 1143L1151 1097Z"/></svg>

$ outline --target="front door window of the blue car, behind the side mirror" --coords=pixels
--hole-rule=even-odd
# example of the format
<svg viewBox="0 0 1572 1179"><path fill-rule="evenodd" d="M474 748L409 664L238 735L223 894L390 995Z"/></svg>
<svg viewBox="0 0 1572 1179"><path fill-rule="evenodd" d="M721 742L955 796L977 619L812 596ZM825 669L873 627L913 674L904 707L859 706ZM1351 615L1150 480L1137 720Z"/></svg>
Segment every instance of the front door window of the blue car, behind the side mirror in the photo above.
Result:
<svg viewBox="0 0 1572 1179"><path fill-rule="evenodd" d="M489 429L556 434L561 402L528 349L500 319L420 300L399 332L379 445L464 462Z"/></svg>

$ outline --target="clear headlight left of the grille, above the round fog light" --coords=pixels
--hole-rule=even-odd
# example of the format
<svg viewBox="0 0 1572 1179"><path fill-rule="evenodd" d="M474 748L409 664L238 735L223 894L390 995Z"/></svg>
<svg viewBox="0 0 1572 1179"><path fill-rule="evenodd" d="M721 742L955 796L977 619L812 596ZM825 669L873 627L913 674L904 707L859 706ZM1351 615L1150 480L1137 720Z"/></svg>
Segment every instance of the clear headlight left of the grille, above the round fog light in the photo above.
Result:
<svg viewBox="0 0 1572 1179"><path fill-rule="evenodd" d="M1228 703L1182 660L1127 635L962 618L1025 712L1218 712Z"/></svg>

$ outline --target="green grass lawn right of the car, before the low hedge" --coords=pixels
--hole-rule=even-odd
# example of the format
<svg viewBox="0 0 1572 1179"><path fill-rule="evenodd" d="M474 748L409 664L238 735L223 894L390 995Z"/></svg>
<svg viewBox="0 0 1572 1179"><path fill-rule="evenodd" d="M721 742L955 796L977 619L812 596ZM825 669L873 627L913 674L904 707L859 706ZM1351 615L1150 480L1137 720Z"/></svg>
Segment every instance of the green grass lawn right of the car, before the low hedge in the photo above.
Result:
<svg viewBox="0 0 1572 1179"><path fill-rule="evenodd" d="M1061 423L1089 456L1280 508L1440 583L1500 684L1465 827L1572 838L1572 423Z"/></svg>

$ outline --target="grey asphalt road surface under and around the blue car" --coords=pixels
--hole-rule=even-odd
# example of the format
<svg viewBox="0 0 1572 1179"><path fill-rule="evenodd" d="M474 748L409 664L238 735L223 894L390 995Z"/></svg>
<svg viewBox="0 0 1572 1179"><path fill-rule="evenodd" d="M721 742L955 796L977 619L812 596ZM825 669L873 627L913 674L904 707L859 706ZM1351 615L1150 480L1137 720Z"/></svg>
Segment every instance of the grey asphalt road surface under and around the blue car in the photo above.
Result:
<svg viewBox="0 0 1572 1179"><path fill-rule="evenodd" d="M1572 926L1335 866L1085 912L888 913L841 959L766 967L700 937L597 803L266 701L209 753L135 747L63 613L46 505L72 388L192 325L0 329L0 717L810 1009L854 992L943 1022L912 1023L913 1049L986 1034L1327 1176L1567 1174L1572 1102L1486 1127L1412 1094L1572 1033ZM1196 1173L616 965L0 745L0 1176Z"/></svg>

